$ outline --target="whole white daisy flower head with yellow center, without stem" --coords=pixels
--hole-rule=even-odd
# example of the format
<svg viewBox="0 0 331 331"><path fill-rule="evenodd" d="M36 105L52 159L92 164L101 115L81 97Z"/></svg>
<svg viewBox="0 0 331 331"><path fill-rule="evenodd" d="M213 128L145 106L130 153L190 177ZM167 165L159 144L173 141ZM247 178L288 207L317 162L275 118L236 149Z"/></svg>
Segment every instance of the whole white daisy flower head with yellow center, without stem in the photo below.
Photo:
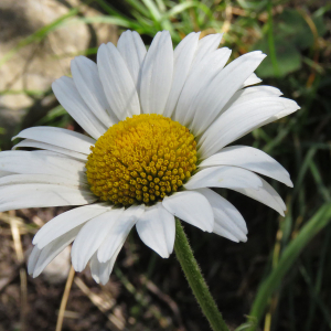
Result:
<svg viewBox="0 0 331 331"><path fill-rule="evenodd" d="M258 174L292 186L288 172L265 152L231 146L298 105L279 89L254 86L261 52L226 65L222 34L190 33L173 50L168 31L146 50L127 31L117 47L100 45L97 64L78 56L72 78L53 83L61 105L89 137L32 127L12 151L0 152L0 212L75 205L34 236L29 274L73 243L72 264L89 263L106 284L130 229L167 258L175 218L234 242L247 241L241 213L210 188L250 196L284 215L285 203ZM15 150L35 148L38 150ZM258 173L258 174L256 174Z"/></svg>

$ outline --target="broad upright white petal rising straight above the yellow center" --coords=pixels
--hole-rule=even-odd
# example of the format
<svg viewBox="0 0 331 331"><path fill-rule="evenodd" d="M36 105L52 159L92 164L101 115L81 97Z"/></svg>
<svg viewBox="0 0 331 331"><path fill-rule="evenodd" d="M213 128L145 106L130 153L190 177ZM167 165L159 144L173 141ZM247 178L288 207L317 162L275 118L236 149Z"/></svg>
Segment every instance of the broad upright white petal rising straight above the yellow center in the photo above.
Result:
<svg viewBox="0 0 331 331"><path fill-rule="evenodd" d="M140 102L142 113L163 114L173 73L173 50L170 33L158 32L142 64Z"/></svg>

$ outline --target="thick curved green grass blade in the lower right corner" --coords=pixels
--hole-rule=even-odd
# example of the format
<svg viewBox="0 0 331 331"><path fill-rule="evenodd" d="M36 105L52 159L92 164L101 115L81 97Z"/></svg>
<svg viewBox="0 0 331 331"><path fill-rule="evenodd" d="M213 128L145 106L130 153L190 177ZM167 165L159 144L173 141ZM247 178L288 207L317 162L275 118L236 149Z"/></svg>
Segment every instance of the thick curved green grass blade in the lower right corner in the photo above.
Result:
<svg viewBox="0 0 331 331"><path fill-rule="evenodd" d="M331 203L323 204L317 213L306 223L295 239L292 239L284 250L277 268L263 281L249 316L260 321L268 305L269 298L279 287L284 276L293 265L307 244L331 220ZM249 331L254 331L250 328Z"/></svg>

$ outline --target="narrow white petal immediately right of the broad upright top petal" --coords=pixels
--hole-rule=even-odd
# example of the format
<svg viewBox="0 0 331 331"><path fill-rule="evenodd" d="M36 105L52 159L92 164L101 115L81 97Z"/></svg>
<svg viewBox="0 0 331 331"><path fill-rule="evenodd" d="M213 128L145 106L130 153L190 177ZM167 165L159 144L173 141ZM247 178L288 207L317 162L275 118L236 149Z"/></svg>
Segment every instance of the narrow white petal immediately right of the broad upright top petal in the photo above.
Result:
<svg viewBox="0 0 331 331"><path fill-rule="evenodd" d="M199 33L186 35L173 52L173 78L163 116L170 117L174 110L181 90L191 70L191 64L199 42Z"/></svg>

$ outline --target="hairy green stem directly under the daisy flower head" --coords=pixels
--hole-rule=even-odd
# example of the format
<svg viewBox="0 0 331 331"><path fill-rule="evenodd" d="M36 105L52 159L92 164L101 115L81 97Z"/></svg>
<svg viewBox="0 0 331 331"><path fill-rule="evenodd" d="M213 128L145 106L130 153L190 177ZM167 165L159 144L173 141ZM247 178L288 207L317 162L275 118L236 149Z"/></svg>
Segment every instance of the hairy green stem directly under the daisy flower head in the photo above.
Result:
<svg viewBox="0 0 331 331"><path fill-rule="evenodd" d="M193 256L193 252L189 244L184 229L178 218L175 218L175 242L174 252L181 267L186 276L190 287L209 320L214 331L228 331L221 312L210 293L207 285L201 275L201 270Z"/></svg>

